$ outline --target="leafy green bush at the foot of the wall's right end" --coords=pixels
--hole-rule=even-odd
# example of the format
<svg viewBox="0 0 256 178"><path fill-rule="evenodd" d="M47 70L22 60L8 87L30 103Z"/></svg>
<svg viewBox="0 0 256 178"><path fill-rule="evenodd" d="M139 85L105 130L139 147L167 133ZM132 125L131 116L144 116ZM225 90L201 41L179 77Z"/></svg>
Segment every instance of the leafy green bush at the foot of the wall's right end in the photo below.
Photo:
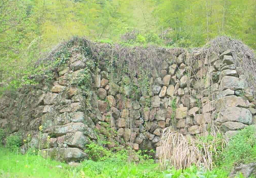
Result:
<svg viewBox="0 0 256 178"><path fill-rule="evenodd" d="M256 128L248 126L233 136L223 152L223 164L250 163L256 160Z"/></svg>

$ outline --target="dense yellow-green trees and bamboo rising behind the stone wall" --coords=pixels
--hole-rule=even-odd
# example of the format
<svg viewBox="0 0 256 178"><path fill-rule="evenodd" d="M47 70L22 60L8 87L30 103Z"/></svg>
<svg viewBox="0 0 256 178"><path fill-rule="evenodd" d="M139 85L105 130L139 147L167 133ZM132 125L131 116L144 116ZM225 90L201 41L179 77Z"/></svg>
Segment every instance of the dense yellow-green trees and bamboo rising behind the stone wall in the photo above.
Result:
<svg viewBox="0 0 256 178"><path fill-rule="evenodd" d="M256 49L255 0L3 0L0 87L24 82L34 61L73 35L126 45L198 47L223 34Z"/></svg>

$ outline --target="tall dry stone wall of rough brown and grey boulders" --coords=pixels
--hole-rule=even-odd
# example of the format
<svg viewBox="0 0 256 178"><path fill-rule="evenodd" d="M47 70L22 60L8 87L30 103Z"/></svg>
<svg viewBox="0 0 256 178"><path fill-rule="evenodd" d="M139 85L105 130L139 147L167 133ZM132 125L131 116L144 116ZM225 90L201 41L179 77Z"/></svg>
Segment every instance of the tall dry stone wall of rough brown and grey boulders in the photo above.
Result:
<svg viewBox="0 0 256 178"><path fill-rule="evenodd" d="M0 127L10 134L20 132L24 139L31 134L30 147L66 162L87 159L86 146L102 139L108 148L156 150L157 159L167 127L195 137L216 126L229 138L256 117L254 91L234 52L170 55L153 67L142 87L137 76L124 74L116 80L106 62L99 61L92 75L90 108L73 83L86 62L74 55L65 67L53 70L50 84L42 80L0 98ZM22 152L26 148L23 145Z"/></svg>

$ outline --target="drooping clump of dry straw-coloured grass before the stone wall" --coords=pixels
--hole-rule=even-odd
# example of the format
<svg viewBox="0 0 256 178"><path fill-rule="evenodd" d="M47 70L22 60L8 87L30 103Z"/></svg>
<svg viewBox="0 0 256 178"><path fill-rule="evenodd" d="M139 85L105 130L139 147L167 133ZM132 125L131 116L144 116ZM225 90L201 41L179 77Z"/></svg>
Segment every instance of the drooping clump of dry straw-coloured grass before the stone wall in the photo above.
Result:
<svg viewBox="0 0 256 178"><path fill-rule="evenodd" d="M196 165L212 169L218 149L223 149L226 143L224 139L217 138L216 132L212 132L211 136L213 139L205 142L202 139L185 137L177 131L165 128L161 138L161 168L168 169L173 166L175 169L185 169ZM219 145L222 148L216 148Z"/></svg>

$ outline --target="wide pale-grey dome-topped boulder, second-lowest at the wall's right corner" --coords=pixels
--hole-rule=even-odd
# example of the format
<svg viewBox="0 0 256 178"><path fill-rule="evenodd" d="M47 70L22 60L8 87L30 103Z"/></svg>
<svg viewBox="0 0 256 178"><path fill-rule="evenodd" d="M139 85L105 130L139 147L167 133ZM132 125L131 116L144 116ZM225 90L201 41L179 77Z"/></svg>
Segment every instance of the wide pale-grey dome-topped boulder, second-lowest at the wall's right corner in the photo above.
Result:
<svg viewBox="0 0 256 178"><path fill-rule="evenodd" d="M246 125L252 124L251 112L245 108L231 107L219 112L217 123L241 122Z"/></svg>

